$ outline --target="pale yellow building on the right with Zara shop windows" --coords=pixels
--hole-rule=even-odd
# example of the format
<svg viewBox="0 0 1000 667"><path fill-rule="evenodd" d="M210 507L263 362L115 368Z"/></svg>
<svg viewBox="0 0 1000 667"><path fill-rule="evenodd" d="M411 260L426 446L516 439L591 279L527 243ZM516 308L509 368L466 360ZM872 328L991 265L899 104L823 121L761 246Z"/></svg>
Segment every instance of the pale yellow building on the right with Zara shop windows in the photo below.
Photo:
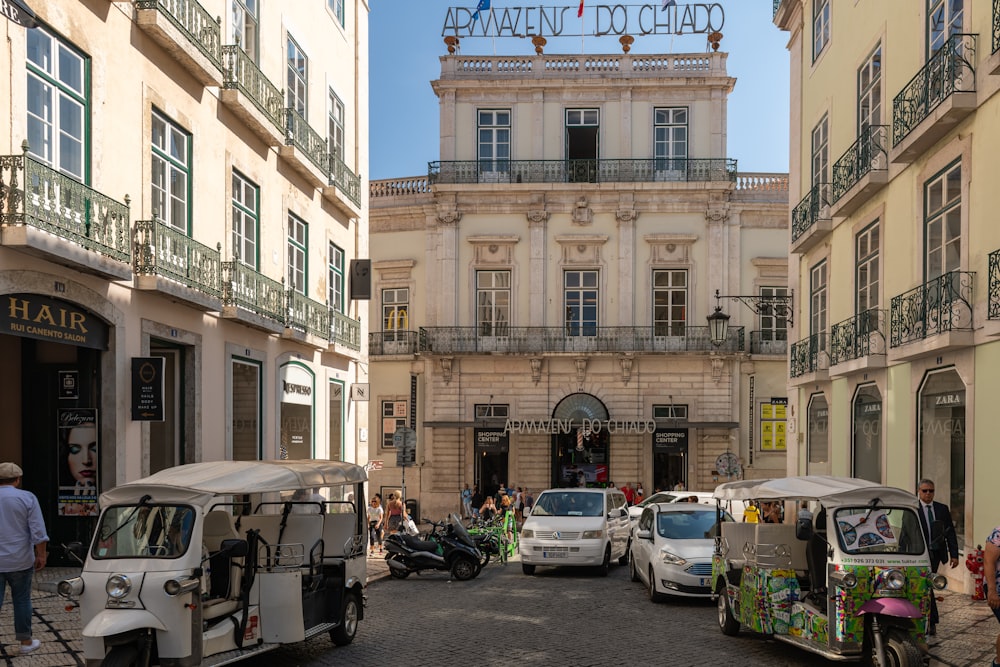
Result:
<svg viewBox="0 0 1000 667"><path fill-rule="evenodd" d="M929 477L960 548L982 544L1000 519L997 5L774 9L791 53L789 473Z"/></svg>

